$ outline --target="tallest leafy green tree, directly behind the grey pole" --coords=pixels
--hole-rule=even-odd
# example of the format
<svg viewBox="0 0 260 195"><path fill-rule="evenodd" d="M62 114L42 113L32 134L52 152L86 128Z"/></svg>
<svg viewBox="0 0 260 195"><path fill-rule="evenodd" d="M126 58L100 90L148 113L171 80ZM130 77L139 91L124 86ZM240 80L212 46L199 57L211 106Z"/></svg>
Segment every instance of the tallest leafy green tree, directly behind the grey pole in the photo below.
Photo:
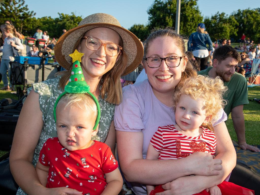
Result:
<svg viewBox="0 0 260 195"><path fill-rule="evenodd" d="M157 27L175 27L176 0L155 0L148 9L148 29ZM189 36L203 17L197 6L197 0L182 0L180 8L180 34Z"/></svg>

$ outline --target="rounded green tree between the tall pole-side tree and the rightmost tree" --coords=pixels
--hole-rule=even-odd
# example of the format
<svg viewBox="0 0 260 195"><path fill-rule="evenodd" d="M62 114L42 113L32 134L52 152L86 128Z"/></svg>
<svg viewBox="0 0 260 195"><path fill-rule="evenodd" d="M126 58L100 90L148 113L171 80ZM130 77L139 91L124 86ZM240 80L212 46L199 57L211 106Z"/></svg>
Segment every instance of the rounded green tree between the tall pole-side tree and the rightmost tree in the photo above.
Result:
<svg viewBox="0 0 260 195"><path fill-rule="evenodd" d="M231 36L237 36L237 21L234 16L228 16L224 12L206 17L204 19L206 30L211 40L219 38L229 39Z"/></svg>

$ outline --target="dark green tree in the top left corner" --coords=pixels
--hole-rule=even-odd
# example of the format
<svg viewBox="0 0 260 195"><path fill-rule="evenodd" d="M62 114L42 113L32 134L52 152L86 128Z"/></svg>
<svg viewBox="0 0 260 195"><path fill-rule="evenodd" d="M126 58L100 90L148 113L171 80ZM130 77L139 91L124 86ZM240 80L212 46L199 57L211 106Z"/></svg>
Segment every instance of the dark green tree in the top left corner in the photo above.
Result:
<svg viewBox="0 0 260 195"><path fill-rule="evenodd" d="M36 13L29 11L24 0L4 0L0 3L0 24L11 20L18 32L28 29L31 25L31 17Z"/></svg>

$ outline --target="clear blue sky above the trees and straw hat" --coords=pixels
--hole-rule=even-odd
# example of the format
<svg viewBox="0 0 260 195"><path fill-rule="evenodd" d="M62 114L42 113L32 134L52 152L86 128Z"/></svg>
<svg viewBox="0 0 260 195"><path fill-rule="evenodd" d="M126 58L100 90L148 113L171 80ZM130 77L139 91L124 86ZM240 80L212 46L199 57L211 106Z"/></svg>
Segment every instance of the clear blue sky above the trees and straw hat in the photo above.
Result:
<svg viewBox="0 0 260 195"><path fill-rule="evenodd" d="M36 18L43 16L58 17L59 13L70 14L74 12L82 18L103 12L113 15L124 28L130 28L133 24L147 24L147 10L154 0L25 0L30 11L36 12ZM248 5L246 5L248 3ZM48 6L46 6L48 5ZM202 16L211 16L219 12L230 14L238 9L259 8L259 0L198 0L199 10ZM196 24L197 25L197 24Z"/></svg>

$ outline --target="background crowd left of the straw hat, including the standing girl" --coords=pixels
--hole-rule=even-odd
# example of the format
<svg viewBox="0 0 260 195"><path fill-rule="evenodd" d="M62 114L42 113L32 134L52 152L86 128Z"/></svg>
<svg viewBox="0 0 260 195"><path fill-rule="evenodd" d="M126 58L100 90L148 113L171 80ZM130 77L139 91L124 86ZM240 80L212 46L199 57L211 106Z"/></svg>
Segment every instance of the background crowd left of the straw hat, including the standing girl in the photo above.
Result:
<svg viewBox="0 0 260 195"><path fill-rule="evenodd" d="M66 29L62 30L62 34L66 32ZM29 36L28 36L29 37ZM27 38L28 38L27 37ZM11 91L11 84L8 81L8 77L10 79L10 61L14 61L15 57L18 56L18 51L27 50L27 47L30 49L29 52L26 52L27 56L31 57L38 57L39 50L41 51L48 51L50 53L49 57L51 56L51 52L53 51L57 40L53 37L50 40L48 35L48 31L42 31L41 29L36 29L35 34L33 37L29 37L35 39L36 44L29 45L27 39L25 39L22 33L16 31L12 21L7 20L4 24L1 25L1 32L0 32L0 81L3 80L4 87L1 90L8 90ZM40 47L38 41L44 41L43 47ZM6 74L8 73L8 74Z"/></svg>

